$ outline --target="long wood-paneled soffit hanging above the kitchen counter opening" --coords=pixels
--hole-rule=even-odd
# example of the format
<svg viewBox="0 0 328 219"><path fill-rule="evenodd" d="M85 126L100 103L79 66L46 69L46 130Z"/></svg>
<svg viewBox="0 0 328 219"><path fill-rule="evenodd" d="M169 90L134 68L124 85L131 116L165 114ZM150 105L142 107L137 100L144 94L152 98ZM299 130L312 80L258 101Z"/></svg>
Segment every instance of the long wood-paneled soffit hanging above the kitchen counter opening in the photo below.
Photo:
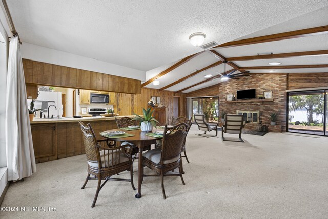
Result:
<svg viewBox="0 0 328 219"><path fill-rule="evenodd" d="M69 68L23 59L25 83L97 90L115 93L141 93L141 81L127 77Z"/></svg>

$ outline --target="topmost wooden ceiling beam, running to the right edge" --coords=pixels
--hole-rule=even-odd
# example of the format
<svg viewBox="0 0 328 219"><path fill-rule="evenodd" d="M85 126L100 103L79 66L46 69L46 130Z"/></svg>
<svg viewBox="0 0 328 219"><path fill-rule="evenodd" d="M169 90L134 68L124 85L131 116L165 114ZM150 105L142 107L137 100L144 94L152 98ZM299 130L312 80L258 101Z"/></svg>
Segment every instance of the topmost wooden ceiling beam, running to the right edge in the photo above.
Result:
<svg viewBox="0 0 328 219"><path fill-rule="evenodd" d="M328 32L328 26L326 25L326 26L313 27L313 28L302 29L302 30L289 31L284 33L258 36L248 39L240 39L239 41L231 41L228 43L220 44L213 48L227 48L233 46L244 46L244 45L258 44L258 43L265 43L265 42L272 42L272 41L281 41L282 39L293 39L293 38L299 38L304 36L313 36L313 35L324 34L327 32Z"/></svg>

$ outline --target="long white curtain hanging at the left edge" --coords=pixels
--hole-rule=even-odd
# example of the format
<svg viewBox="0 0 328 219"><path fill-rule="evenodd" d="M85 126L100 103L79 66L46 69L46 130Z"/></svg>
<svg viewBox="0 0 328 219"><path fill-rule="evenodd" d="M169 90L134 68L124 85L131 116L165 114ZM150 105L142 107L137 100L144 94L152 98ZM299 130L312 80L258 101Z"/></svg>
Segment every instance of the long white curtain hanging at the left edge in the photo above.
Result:
<svg viewBox="0 0 328 219"><path fill-rule="evenodd" d="M18 36L9 45L6 92L6 155L8 181L36 171L26 87Z"/></svg>

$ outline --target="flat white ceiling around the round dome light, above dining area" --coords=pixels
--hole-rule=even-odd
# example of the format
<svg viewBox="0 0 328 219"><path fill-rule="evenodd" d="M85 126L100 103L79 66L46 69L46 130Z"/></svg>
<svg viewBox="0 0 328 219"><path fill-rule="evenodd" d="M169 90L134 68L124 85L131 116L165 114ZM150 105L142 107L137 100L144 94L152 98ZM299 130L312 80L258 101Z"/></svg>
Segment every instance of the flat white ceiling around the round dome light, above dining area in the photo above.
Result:
<svg viewBox="0 0 328 219"><path fill-rule="evenodd" d="M198 52L189 42L191 33L204 32L205 43L221 44L328 5L326 0L7 2L22 41L143 71Z"/></svg>

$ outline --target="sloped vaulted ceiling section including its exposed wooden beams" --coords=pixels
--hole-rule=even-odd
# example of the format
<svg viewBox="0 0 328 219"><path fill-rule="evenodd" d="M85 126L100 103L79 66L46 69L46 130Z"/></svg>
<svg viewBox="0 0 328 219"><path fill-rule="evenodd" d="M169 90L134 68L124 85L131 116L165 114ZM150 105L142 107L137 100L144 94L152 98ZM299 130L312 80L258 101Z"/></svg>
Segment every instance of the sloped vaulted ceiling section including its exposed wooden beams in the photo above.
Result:
<svg viewBox="0 0 328 219"><path fill-rule="evenodd" d="M160 85L154 86L148 84L145 87L156 88L160 90L191 92L197 89L209 87L221 83L220 75L224 72L224 64L202 71L192 77L181 81L180 78L190 75L190 72L208 66L222 58L215 57L216 54L226 58L240 69L250 71L251 73L312 73L326 72L328 74L328 7L321 8L317 11L304 14L293 18L281 24L263 29L261 31L246 35L217 47L210 49L212 52L203 52L195 56L187 63L177 67L165 76L158 77ZM315 28L319 27L319 28ZM303 34L306 31L298 30L310 29L311 34ZM322 31L322 32L320 32ZM298 34L291 38L276 38L274 41L252 43L249 45L238 45L245 43L245 39L253 41L254 37L261 39L269 35ZM317 33L319 32L319 33ZM272 37L275 37L272 36ZM270 36L271 37L271 36ZM210 41L210 40L209 40ZM207 42L205 42L207 43ZM237 45L236 45L237 44ZM247 43L246 43L247 44ZM201 48L199 48L200 51ZM272 53L273 55L258 55L258 53ZM280 62L281 65L272 66L271 62ZM162 66L147 72L146 81L156 77L156 75L165 70L167 67L174 65ZM227 65L226 71L232 67ZM233 74L238 74L236 71ZM204 78L205 75L212 74L211 78ZM171 86L173 85L173 86Z"/></svg>

